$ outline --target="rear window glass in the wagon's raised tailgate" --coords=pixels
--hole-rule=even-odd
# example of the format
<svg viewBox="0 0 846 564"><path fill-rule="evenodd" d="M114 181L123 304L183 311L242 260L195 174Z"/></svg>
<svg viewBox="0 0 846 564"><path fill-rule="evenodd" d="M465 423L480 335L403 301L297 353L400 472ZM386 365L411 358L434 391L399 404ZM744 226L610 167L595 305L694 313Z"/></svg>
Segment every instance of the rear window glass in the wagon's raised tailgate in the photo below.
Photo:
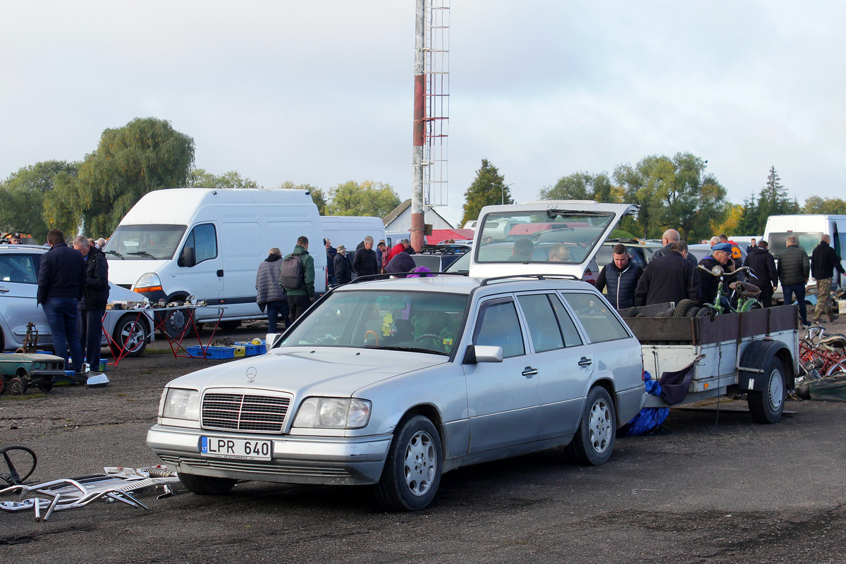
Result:
<svg viewBox="0 0 846 564"><path fill-rule="evenodd" d="M612 213L539 211L491 213L481 227L476 261L580 264L599 244Z"/></svg>

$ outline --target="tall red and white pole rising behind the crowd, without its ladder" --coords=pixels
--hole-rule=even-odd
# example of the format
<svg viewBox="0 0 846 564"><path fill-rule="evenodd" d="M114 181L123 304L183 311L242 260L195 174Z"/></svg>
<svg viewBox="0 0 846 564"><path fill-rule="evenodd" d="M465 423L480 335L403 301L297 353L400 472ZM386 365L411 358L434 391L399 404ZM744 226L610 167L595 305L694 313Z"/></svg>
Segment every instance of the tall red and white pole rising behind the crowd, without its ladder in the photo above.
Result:
<svg viewBox="0 0 846 564"><path fill-rule="evenodd" d="M426 137L426 0L416 0L415 14L415 126L411 179L411 246L421 249L423 217L423 144Z"/></svg>

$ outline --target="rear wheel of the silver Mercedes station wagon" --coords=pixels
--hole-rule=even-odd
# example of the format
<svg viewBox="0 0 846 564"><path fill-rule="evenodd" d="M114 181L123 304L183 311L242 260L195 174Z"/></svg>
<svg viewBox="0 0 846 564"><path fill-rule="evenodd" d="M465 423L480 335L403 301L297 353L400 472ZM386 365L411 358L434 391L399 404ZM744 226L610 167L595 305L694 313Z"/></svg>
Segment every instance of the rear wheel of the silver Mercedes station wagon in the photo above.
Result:
<svg viewBox="0 0 846 564"><path fill-rule="evenodd" d="M579 429L566 451L570 459L585 466L607 462L617 435L617 413L611 395L602 386L593 386L585 400Z"/></svg>

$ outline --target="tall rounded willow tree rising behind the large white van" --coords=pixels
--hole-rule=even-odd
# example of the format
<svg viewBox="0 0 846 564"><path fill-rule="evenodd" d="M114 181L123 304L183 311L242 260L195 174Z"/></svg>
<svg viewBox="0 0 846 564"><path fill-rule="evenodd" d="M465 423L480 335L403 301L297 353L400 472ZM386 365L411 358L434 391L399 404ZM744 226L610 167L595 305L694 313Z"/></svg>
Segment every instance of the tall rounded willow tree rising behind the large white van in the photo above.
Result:
<svg viewBox="0 0 846 564"><path fill-rule="evenodd" d="M47 224L75 233L85 222L85 234L106 236L144 194L186 186L193 162L194 139L168 121L135 118L106 129L77 177L56 176L45 198Z"/></svg>

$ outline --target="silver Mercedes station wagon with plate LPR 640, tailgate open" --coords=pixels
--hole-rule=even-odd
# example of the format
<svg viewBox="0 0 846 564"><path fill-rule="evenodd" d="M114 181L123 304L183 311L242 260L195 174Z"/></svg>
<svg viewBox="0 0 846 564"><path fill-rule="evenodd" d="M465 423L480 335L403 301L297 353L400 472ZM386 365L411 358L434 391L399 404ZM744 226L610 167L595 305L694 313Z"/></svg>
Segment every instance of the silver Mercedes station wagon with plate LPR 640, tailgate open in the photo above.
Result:
<svg viewBox="0 0 846 564"><path fill-rule="evenodd" d="M555 446L605 463L644 402L640 343L579 275L634 210L487 207L469 277L335 288L261 357L169 382L147 444L198 494L375 485L397 510L426 507L468 464Z"/></svg>

